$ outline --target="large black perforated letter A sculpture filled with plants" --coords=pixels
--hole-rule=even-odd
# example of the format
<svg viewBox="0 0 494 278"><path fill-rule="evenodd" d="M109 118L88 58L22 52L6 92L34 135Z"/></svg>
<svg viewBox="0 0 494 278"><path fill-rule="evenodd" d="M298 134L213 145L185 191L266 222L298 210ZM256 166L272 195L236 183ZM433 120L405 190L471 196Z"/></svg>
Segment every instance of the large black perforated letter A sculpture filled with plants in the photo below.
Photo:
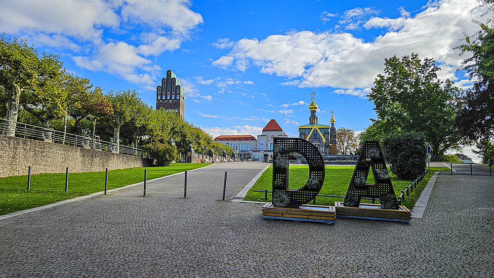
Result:
<svg viewBox="0 0 494 278"><path fill-rule="evenodd" d="M371 167L375 184L367 184ZM361 198L379 199L383 209L399 209L386 162L377 141L364 142L343 205L359 207Z"/></svg>

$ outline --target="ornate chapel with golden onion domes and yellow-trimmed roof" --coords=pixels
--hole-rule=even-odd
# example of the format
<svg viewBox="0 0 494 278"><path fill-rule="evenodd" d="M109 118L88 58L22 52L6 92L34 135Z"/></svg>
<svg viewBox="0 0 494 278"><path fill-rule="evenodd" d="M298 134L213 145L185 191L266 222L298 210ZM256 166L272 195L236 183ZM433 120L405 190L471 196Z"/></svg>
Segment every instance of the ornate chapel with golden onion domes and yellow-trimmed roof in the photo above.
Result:
<svg viewBox="0 0 494 278"><path fill-rule="evenodd" d="M336 155L336 128L334 115L331 111L331 125L317 122L317 104L312 92L312 102L309 105L309 123L298 127L299 138L305 139L319 149L323 155Z"/></svg>

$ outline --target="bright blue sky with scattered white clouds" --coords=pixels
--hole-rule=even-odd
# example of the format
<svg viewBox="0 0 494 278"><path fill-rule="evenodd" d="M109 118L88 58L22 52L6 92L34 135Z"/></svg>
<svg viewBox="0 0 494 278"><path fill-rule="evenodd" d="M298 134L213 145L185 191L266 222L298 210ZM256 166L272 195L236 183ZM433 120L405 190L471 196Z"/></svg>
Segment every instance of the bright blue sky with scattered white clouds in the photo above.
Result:
<svg viewBox="0 0 494 278"><path fill-rule="evenodd" d="M103 91L135 90L156 106L172 70L185 118L217 135L259 135L270 119L298 137L314 91L320 123L362 131L376 118L366 97L384 58L434 58L461 88L454 49L486 21L476 0L0 0L0 32ZM472 156L471 148L464 153ZM478 160L478 158L475 158Z"/></svg>

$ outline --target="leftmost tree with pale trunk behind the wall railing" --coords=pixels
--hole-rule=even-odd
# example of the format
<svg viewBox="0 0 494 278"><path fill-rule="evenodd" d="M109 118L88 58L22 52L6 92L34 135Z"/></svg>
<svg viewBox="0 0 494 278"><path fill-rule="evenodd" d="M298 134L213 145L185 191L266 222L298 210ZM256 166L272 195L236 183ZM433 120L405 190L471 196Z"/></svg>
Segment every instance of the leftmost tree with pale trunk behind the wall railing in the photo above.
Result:
<svg viewBox="0 0 494 278"><path fill-rule="evenodd" d="M5 134L14 136L21 93L36 90L37 86L55 77L60 69L59 57L43 53L29 46L27 40L7 39L0 35L0 86L7 93L5 119L10 121Z"/></svg>

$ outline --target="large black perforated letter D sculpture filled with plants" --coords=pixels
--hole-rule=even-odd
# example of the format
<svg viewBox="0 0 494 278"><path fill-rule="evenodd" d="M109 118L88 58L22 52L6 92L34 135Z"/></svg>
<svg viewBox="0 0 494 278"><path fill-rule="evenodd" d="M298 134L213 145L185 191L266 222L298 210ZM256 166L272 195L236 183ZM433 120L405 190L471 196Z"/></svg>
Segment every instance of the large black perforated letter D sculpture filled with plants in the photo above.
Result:
<svg viewBox="0 0 494 278"><path fill-rule="evenodd" d="M301 154L309 164L309 179L300 189L288 189L288 153ZM273 205L298 208L312 201L324 182L324 160L319 150L301 138L273 139Z"/></svg>

